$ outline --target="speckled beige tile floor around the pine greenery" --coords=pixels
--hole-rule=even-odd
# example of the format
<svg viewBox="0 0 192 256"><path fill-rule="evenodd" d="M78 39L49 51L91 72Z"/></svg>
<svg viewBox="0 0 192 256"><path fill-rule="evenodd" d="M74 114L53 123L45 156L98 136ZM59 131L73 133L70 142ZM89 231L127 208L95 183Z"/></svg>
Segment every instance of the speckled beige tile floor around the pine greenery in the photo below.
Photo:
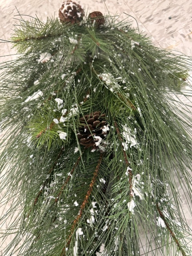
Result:
<svg viewBox="0 0 192 256"><path fill-rule="evenodd" d="M156 46L168 48L192 56L192 1L191 0L81 0L79 2L86 10L99 10L103 14L120 15L127 18L133 26L138 26L151 36ZM59 0L0 0L0 38L9 40L13 25L20 14L42 17L58 15L62 1ZM126 14L124 14L124 12ZM134 18L132 18L134 17ZM12 58L14 54L10 43L0 44L0 62ZM192 216L185 209L185 217L192 228ZM1 246L1 241L0 241ZM146 255L146 254L142 254ZM152 252L148 256L153 255ZM162 254L159 254L162 255ZM14 256L14 255L12 255ZM172 255L175 256L175 255Z"/></svg>

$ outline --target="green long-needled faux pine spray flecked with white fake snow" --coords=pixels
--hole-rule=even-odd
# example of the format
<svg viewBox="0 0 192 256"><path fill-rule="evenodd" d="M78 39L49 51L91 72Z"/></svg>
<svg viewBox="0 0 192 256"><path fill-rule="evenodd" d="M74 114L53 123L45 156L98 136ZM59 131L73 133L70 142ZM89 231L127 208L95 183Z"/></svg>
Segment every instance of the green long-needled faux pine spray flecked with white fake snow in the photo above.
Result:
<svg viewBox="0 0 192 256"><path fill-rule="evenodd" d="M17 218L2 255L192 255L191 58L110 16L20 16L12 42L16 59L0 65L1 205L12 205L0 220ZM78 132L96 111L107 135L93 150Z"/></svg>

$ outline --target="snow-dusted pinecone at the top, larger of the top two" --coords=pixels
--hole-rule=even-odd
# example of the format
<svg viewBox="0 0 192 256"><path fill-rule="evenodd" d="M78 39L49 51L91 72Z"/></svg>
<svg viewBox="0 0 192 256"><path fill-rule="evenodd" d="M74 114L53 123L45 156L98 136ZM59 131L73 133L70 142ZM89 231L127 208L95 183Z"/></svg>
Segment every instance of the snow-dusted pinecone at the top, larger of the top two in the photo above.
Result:
<svg viewBox="0 0 192 256"><path fill-rule="evenodd" d="M78 23L82 20L84 16L84 10L80 4L67 0L62 3L59 9L59 18L61 22L68 22L71 24Z"/></svg>

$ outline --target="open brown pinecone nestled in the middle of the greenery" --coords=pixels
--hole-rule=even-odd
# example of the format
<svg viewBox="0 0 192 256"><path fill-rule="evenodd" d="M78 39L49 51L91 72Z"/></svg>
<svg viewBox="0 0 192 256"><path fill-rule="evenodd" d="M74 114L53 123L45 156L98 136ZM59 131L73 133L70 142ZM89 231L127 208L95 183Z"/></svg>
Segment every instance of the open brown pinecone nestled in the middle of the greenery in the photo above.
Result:
<svg viewBox="0 0 192 256"><path fill-rule="evenodd" d="M80 145L83 145L85 148L101 149L102 139L107 136L109 130L105 116L100 111L96 111L79 119L80 126L77 137Z"/></svg>

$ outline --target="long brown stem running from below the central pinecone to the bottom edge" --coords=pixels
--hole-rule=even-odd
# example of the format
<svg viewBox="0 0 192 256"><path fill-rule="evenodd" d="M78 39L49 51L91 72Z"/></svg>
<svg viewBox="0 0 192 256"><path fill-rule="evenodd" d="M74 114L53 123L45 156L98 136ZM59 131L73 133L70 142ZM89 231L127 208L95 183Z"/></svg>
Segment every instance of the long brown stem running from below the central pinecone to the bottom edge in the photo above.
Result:
<svg viewBox="0 0 192 256"><path fill-rule="evenodd" d="M61 252L60 256L65 256L66 255L66 250L65 250L66 246L70 245L71 238L72 238L72 235L74 234L74 230L75 230L76 224L78 224L78 221L82 217L83 210L84 210L86 204L88 203L88 199L89 199L90 194L91 194L91 192L93 190L93 186L94 186L94 184L96 182L96 177L98 175L98 171L99 171L99 168L100 168L100 165L101 165L101 162L102 162L102 158L103 158L103 153L100 155L100 158L98 160L98 164L97 164L96 169L95 169L94 174L93 174L93 178L92 178L92 180L91 180L91 182L89 184L89 189L88 189L88 191L86 193L86 196L84 197L84 200L83 200L83 202L82 202L82 204L80 206L79 213L78 213L77 217L75 218L75 220L73 221L73 224L72 224L72 227L71 227L71 231L70 231L70 234L69 234L68 239L67 239L67 243L64 246L64 248L62 249L62 252Z"/></svg>

